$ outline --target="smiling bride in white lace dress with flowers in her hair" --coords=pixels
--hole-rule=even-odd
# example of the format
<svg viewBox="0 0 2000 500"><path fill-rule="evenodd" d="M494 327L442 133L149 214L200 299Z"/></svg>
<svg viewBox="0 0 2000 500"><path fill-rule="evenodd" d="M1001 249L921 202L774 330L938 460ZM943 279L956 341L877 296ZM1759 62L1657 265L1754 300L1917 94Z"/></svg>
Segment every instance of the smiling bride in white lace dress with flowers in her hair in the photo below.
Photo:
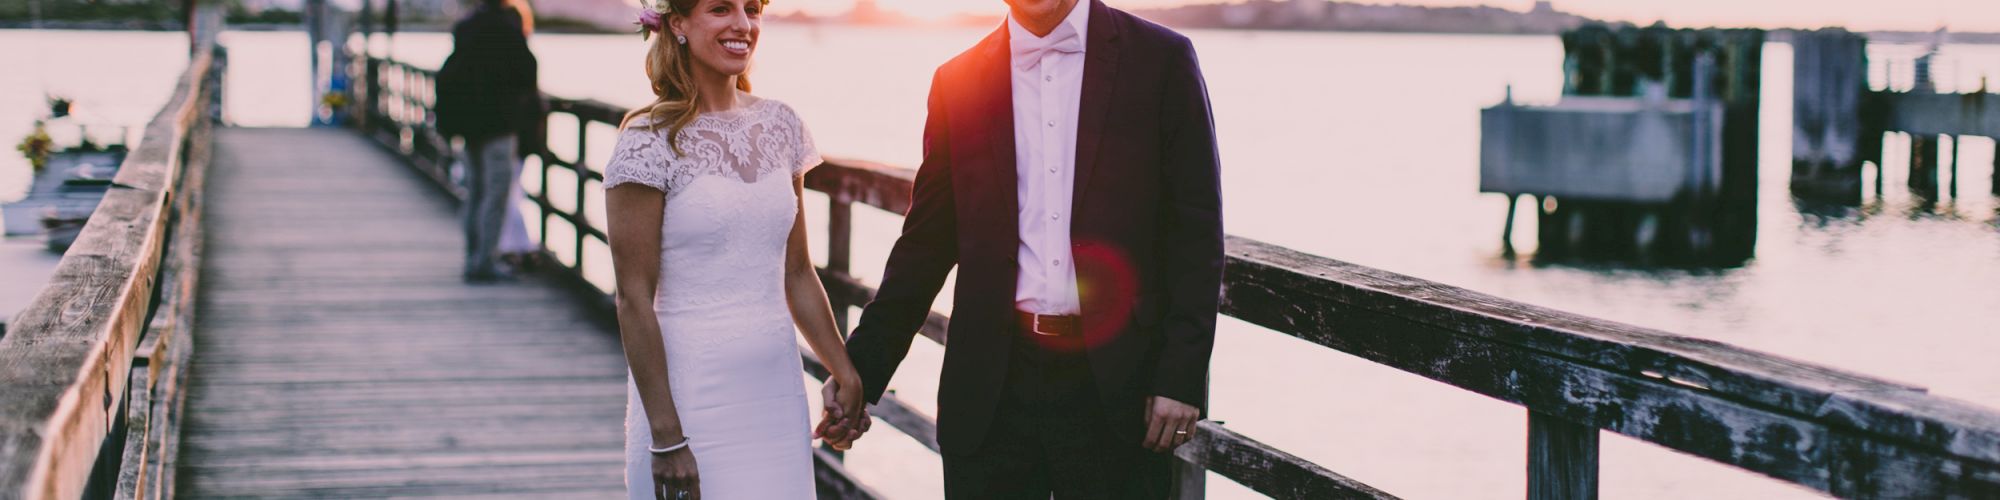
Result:
<svg viewBox="0 0 2000 500"><path fill-rule="evenodd" d="M868 426L806 254L802 176L820 156L798 114L744 78L766 2L640 10L658 98L626 114L604 168L632 500L814 496L794 332L832 372L824 438L844 448Z"/></svg>

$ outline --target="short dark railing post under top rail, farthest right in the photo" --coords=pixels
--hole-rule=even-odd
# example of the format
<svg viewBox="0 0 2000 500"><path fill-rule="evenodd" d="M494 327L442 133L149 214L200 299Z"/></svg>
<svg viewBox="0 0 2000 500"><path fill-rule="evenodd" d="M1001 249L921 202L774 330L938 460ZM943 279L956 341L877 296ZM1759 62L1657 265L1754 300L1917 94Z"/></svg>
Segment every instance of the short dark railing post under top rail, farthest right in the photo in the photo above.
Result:
<svg viewBox="0 0 2000 500"><path fill-rule="evenodd" d="M1598 430L1528 410L1528 500L1596 500Z"/></svg>

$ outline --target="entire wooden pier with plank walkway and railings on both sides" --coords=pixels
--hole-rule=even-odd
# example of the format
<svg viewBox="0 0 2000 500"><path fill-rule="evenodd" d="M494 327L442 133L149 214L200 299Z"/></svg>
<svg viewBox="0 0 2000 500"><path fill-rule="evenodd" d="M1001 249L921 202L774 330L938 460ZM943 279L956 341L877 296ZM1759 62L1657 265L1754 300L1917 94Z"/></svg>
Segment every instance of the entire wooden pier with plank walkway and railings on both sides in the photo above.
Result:
<svg viewBox="0 0 2000 500"><path fill-rule="evenodd" d="M526 178L556 264L472 286L456 282L428 70L358 56L374 78L358 78L372 98L356 130L240 130L214 120L226 54L194 46L50 288L0 336L0 498L616 496L624 366L584 138L622 110L548 98L564 148L528 144ZM912 180L852 160L806 176L830 202L820 276L838 312L874 294L848 272L848 214L908 210ZM1226 252L1222 314L1526 412L1528 498L1596 498L1602 430L1832 496L2000 498L1994 408L1250 238ZM948 342L948 322L922 334ZM804 350L802 366L826 376ZM894 394L872 414L938 450L936 422ZM1272 498L1394 498L1198 428L1174 452L1174 498L1202 498L1204 472ZM814 460L820 498L880 498L840 456Z"/></svg>

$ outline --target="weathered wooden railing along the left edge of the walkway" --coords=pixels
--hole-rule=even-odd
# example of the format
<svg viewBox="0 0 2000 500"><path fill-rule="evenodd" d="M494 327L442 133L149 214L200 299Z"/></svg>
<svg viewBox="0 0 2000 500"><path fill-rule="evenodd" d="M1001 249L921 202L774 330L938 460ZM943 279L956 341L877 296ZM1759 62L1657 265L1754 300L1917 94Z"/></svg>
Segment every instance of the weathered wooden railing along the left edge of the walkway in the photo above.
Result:
<svg viewBox="0 0 2000 500"><path fill-rule="evenodd" d="M200 26L220 26L220 4L202 10ZM178 88L0 338L0 498L172 498L224 66L196 36Z"/></svg>

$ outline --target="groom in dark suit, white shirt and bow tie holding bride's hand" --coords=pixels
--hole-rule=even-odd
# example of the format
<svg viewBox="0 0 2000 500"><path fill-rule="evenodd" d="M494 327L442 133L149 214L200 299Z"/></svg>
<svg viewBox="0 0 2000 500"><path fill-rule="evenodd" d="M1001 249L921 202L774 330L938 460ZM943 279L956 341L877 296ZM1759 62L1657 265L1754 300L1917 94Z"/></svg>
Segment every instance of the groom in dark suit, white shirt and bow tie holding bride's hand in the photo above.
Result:
<svg viewBox="0 0 2000 500"><path fill-rule="evenodd" d="M1222 280L1188 38L1102 0L1006 0L938 68L902 238L848 352L868 402L958 266L938 386L950 498L1162 498L1206 404Z"/></svg>

